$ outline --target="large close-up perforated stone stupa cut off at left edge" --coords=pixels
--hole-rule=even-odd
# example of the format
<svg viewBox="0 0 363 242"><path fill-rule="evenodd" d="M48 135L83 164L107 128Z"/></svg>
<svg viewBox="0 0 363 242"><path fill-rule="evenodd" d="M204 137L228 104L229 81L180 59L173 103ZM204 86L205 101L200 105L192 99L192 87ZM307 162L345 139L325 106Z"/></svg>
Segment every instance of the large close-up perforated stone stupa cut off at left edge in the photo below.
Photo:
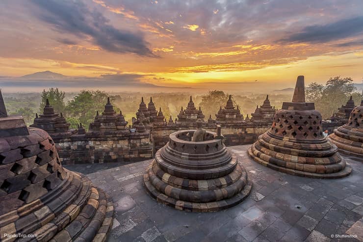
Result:
<svg viewBox="0 0 363 242"><path fill-rule="evenodd" d="M7 116L1 93L0 111L1 241L105 241L113 213L106 194L63 168L47 132Z"/></svg>

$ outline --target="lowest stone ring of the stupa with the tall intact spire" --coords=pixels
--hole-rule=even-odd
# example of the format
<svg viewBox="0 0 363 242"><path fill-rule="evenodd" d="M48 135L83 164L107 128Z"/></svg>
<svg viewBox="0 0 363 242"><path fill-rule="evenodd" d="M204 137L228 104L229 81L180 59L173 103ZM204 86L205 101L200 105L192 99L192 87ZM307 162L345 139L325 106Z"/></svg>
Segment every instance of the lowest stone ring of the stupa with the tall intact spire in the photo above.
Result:
<svg viewBox="0 0 363 242"><path fill-rule="evenodd" d="M261 152L259 152L259 153L261 153ZM252 148L248 149L248 155L254 161L256 161L268 168L271 168L271 169L274 169L274 170L277 170L280 172L284 172L284 173L287 173L290 175L295 175L295 176L304 176L304 177L320 178L320 179L336 179L336 178L346 177L352 172L352 167L349 164L346 164L345 168L343 170L335 172L335 173L312 173L312 172L307 172L307 171L294 170L294 169L282 167L282 166L279 166L276 164L272 164L268 161L264 161L264 160L260 159L258 155L254 154L254 152L252 151Z"/></svg>

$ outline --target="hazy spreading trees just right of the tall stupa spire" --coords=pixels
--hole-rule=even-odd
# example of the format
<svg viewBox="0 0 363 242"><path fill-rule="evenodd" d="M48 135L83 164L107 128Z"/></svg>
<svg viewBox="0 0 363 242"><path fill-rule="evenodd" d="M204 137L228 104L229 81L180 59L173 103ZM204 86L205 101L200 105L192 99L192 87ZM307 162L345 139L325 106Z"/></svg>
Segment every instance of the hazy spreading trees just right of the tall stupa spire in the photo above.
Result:
<svg viewBox="0 0 363 242"><path fill-rule="evenodd" d="M345 104L349 96L357 97L357 88L351 78L330 78L325 86L311 83L305 88L306 101L315 103L315 108L321 112L323 118L329 118L341 105Z"/></svg>

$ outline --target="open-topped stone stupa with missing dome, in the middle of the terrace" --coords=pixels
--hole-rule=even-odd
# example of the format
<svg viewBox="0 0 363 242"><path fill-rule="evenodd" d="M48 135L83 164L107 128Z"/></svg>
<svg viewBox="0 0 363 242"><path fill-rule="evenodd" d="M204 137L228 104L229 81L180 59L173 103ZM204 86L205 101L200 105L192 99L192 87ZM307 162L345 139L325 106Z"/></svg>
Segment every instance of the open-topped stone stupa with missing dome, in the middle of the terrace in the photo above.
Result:
<svg viewBox="0 0 363 242"><path fill-rule="evenodd" d="M223 137L205 131L204 141L192 142L194 133L170 134L145 172L147 191L158 202L189 212L214 212L243 201L252 183Z"/></svg>

